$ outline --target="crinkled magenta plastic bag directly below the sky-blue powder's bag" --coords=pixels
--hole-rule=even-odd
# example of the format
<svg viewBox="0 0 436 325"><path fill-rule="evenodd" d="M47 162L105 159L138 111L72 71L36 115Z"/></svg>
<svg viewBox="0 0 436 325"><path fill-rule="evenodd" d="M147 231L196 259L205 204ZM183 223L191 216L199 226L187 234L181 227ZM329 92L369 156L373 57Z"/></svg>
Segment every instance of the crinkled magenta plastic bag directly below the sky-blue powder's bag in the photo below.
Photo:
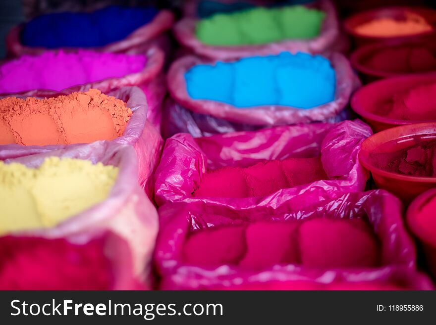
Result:
<svg viewBox="0 0 436 325"><path fill-rule="evenodd" d="M296 205L318 202L336 190L362 191L369 174L359 163L358 152L362 141L371 134L370 127L360 120L275 127L197 139L188 134L177 134L166 140L155 175L155 199L158 205L185 201L251 209L274 208L284 201ZM320 155L328 180L284 188L269 196L192 196L203 175L210 170Z"/></svg>

